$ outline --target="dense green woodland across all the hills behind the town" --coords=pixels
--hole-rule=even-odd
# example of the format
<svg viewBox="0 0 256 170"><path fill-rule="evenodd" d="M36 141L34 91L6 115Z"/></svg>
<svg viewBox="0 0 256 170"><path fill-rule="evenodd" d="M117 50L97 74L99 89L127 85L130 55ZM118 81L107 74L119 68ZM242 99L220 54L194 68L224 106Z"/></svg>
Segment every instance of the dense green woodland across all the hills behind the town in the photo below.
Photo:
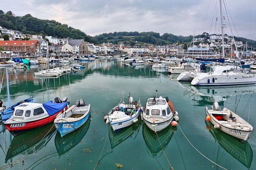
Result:
<svg viewBox="0 0 256 170"><path fill-rule="evenodd" d="M191 36L177 36L170 33L160 35L157 32L110 32L103 33L97 36L86 35L79 29L69 27L67 24L61 24L55 20L42 20L31 16L30 14L23 17L12 15L11 11L4 13L0 10L0 25L7 29L18 30L24 34L41 34L43 36L55 36L58 38L84 39L90 43L101 44L110 42L112 44L180 44L184 43L184 48L190 46ZM207 33L206 33L207 34ZM205 37L205 33L195 36ZM205 37L207 38L207 37ZM243 37L234 37L236 41L246 41L248 46L256 47L256 41L249 40Z"/></svg>

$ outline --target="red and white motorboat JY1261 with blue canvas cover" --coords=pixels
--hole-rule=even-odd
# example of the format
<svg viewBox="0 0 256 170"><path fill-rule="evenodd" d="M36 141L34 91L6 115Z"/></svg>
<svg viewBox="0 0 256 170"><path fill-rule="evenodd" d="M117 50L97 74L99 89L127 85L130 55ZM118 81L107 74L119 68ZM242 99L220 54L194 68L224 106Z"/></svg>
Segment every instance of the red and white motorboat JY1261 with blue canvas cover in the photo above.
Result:
<svg viewBox="0 0 256 170"><path fill-rule="evenodd" d="M67 100L67 98L66 98ZM15 107L10 119L3 122L13 136L48 124L68 109L66 102L22 103Z"/></svg>

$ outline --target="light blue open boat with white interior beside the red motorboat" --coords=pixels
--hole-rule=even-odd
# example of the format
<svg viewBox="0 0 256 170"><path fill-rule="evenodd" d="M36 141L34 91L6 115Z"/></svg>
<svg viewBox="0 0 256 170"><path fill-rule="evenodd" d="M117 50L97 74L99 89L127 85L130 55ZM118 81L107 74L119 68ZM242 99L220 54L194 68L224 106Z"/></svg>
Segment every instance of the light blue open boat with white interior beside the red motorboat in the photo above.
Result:
<svg viewBox="0 0 256 170"><path fill-rule="evenodd" d="M77 100L76 105L71 106L65 112L60 114L55 120L55 127L60 133L61 137L77 130L82 126L90 115L91 105L86 103L83 99Z"/></svg>

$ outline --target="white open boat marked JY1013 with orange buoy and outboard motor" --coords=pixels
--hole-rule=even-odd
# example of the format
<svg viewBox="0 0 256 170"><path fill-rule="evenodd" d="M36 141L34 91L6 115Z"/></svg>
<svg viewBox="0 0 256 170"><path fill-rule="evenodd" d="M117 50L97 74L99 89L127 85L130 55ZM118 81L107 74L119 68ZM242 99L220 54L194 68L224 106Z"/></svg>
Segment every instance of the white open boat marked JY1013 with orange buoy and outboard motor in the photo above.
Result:
<svg viewBox="0 0 256 170"><path fill-rule="evenodd" d="M219 111L219 104L217 102L213 103L212 109L206 107L205 111L207 115L206 121L210 121L215 129L220 129L226 134L237 138L242 143L248 139L253 131L252 125L231 110L224 108L222 111Z"/></svg>

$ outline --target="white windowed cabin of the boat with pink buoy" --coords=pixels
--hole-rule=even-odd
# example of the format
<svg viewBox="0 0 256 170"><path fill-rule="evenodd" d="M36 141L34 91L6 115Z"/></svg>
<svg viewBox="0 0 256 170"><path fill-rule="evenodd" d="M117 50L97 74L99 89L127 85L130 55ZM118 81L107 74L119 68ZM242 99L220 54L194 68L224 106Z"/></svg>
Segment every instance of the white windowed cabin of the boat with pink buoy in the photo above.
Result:
<svg viewBox="0 0 256 170"><path fill-rule="evenodd" d="M172 112L164 98L149 98L145 108L145 114L149 117L169 117Z"/></svg>

